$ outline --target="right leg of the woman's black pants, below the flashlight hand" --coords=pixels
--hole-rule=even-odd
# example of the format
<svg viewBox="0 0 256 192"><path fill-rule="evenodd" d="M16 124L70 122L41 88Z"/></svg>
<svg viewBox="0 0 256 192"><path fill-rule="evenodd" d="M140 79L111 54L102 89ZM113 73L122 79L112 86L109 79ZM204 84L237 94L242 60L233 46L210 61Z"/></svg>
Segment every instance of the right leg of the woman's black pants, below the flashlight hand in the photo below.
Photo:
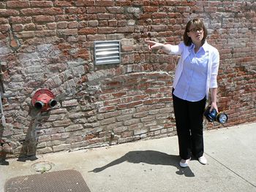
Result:
<svg viewBox="0 0 256 192"><path fill-rule="evenodd" d="M191 150L196 158L203 155L203 112L206 98L201 101L189 102L189 127L191 129Z"/></svg>

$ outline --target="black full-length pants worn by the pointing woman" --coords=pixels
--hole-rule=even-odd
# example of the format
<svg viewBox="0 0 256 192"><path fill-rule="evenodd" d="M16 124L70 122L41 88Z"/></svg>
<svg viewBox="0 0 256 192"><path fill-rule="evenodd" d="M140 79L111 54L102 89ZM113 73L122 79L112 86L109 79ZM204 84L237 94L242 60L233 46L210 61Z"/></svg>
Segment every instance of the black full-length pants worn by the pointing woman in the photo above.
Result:
<svg viewBox="0 0 256 192"><path fill-rule="evenodd" d="M173 90L174 91L174 90ZM186 101L173 95L174 115L178 134L179 155L184 160L203 155L203 112L206 98L200 101Z"/></svg>

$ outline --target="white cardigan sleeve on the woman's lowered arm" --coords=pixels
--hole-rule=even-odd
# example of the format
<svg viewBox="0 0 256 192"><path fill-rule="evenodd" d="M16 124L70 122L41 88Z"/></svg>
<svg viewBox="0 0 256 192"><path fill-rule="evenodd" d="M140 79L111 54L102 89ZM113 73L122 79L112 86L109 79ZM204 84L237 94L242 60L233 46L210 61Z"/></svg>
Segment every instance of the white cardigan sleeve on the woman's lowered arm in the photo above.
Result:
<svg viewBox="0 0 256 192"><path fill-rule="evenodd" d="M219 71L219 51L214 49L212 53L212 66L211 66L211 79L210 79L210 88L217 88L217 75Z"/></svg>

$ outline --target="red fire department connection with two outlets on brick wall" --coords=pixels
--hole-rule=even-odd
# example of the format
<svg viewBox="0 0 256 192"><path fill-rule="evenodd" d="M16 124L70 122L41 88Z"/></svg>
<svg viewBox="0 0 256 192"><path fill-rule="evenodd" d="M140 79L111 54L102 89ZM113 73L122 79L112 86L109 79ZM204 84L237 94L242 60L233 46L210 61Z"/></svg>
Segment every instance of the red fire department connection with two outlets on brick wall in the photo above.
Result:
<svg viewBox="0 0 256 192"><path fill-rule="evenodd" d="M36 110L46 111L56 106L55 96L48 89L40 89L32 97L32 104Z"/></svg>

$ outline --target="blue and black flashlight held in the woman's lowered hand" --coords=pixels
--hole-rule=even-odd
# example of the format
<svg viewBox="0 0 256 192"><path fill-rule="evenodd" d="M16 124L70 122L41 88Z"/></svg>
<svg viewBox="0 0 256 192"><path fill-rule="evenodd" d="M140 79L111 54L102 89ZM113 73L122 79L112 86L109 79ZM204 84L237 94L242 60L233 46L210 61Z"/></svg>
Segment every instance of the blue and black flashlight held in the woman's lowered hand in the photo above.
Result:
<svg viewBox="0 0 256 192"><path fill-rule="evenodd" d="M211 109L211 105L209 105L208 107L206 107L206 110L205 112L203 113L203 115L206 117L206 119L209 121L209 122L214 122L214 121L217 121L219 123L227 123L227 114L225 114L224 112L218 112L216 110L211 110L210 112L210 109Z"/></svg>

